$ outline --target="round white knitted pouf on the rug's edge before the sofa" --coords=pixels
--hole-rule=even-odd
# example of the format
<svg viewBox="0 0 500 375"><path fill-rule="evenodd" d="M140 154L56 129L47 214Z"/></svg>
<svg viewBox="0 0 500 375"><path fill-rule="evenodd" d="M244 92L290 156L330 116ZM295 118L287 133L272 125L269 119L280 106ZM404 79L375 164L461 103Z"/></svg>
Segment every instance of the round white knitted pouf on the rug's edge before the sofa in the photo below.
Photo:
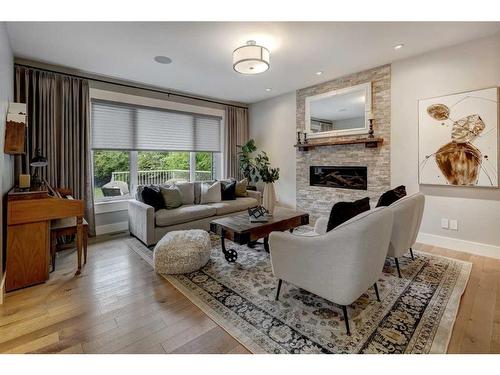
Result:
<svg viewBox="0 0 500 375"><path fill-rule="evenodd" d="M201 229L168 232L155 246L155 271L162 274L199 270L210 259L210 235Z"/></svg>

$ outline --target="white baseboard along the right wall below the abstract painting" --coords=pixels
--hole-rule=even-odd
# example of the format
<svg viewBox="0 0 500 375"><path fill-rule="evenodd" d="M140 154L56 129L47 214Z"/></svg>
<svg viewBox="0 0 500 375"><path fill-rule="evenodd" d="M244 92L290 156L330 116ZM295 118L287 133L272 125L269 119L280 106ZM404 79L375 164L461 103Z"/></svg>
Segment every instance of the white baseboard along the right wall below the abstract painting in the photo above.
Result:
<svg viewBox="0 0 500 375"><path fill-rule="evenodd" d="M500 259L500 246L422 232L418 234L417 242L462 251L474 255Z"/></svg>

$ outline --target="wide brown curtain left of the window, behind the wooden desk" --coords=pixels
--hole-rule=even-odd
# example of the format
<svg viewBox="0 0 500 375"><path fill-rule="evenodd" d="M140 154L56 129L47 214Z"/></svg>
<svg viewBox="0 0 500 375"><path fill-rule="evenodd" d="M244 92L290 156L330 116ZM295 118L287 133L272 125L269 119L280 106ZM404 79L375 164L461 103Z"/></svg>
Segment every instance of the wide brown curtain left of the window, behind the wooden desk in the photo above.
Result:
<svg viewBox="0 0 500 375"><path fill-rule="evenodd" d="M86 203L85 218L95 233L90 158L90 98L85 79L16 66L16 102L28 111L27 153L24 171L40 149L48 160L41 168L53 187L67 188Z"/></svg>

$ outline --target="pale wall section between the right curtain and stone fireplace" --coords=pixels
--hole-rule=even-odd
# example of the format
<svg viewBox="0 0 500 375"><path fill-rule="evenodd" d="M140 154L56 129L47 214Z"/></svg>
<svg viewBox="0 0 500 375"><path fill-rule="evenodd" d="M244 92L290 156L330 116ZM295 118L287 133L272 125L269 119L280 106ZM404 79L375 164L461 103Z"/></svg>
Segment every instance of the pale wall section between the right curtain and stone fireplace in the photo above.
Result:
<svg viewBox="0 0 500 375"><path fill-rule="evenodd" d="M250 138L268 153L271 164L280 168L276 183L278 204L295 208L295 92L250 106Z"/></svg>

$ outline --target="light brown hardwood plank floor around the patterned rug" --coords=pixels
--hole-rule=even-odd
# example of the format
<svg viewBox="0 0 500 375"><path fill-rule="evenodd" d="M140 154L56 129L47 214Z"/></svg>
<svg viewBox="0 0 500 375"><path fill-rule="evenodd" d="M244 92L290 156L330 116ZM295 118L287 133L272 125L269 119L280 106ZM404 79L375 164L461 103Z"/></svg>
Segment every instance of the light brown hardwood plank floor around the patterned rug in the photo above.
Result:
<svg viewBox="0 0 500 375"><path fill-rule="evenodd" d="M60 253L42 285L0 305L0 353L248 353L129 250L124 237ZM500 260L417 245L473 263L449 353L500 353Z"/></svg>

